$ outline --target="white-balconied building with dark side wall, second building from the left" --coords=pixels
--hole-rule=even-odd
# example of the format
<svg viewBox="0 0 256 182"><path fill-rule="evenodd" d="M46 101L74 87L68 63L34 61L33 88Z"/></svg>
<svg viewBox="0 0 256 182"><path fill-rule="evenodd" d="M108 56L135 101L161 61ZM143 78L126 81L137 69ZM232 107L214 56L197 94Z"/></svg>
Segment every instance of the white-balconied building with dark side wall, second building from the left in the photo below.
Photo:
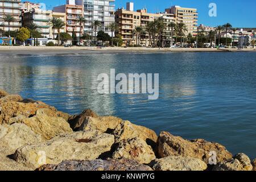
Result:
<svg viewBox="0 0 256 182"><path fill-rule="evenodd" d="M35 23L38 26L38 31L44 38L51 38L51 27L48 25L51 19L52 11L33 8L30 11L25 11L22 15L22 26L26 27L30 23Z"/></svg>

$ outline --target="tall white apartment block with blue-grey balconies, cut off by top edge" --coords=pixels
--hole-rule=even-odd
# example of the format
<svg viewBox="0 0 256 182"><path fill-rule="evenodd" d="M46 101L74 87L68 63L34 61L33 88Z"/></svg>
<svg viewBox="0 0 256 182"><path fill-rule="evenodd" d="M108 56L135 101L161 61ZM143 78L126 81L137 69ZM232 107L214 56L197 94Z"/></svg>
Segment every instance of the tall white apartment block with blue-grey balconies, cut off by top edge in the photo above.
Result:
<svg viewBox="0 0 256 182"><path fill-rule="evenodd" d="M104 31L111 35L109 24L115 22L115 0L84 0L84 17L87 20L84 26L84 31L94 36L92 22L98 20L101 26L98 31ZM78 2L77 2L78 3Z"/></svg>

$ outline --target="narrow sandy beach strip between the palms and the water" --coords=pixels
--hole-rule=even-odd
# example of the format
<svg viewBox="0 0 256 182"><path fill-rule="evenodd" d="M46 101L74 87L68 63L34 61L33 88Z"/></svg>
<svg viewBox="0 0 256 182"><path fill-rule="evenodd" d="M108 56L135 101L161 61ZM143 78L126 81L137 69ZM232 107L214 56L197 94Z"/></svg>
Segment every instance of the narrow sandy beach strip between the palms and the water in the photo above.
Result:
<svg viewBox="0 0 256 182"><path fill-rule="evenodd" d="M256 48L215 49L215 48L133 48L133 47L24 47L0 46L0 55L31 54L93 54L93 53L181 53L181 52L256 52Z"/></svg>

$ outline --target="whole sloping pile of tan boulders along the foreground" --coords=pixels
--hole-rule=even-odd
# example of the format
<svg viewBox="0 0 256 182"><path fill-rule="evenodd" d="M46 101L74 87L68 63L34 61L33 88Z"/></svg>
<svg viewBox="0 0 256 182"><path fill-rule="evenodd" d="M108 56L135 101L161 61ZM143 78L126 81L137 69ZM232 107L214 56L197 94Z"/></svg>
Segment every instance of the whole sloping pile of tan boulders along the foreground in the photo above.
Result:
<svg viewBox="0 0 256 182"><path fill-rule="evenodd" d="M0 90L0 170L251 171L255 161L218 143L158 136L89 109L71 116Z"/></svg>

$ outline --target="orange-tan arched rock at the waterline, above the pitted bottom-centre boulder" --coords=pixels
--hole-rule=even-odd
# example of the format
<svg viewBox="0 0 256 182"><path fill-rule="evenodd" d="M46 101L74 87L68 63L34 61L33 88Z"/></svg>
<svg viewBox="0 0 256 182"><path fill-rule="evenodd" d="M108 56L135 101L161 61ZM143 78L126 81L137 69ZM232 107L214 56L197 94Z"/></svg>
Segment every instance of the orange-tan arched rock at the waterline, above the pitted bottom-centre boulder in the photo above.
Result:
<svg viewBox="0 0 256 182"><path fill-rule="evenodd" d="M152 146L153 143L156 143L156 140L158 139L155 131L143 126L134 125L129 121L122 121L115 128L113 134L115 136L115 143L118 143L123 139L139 137Z"/></svg>

